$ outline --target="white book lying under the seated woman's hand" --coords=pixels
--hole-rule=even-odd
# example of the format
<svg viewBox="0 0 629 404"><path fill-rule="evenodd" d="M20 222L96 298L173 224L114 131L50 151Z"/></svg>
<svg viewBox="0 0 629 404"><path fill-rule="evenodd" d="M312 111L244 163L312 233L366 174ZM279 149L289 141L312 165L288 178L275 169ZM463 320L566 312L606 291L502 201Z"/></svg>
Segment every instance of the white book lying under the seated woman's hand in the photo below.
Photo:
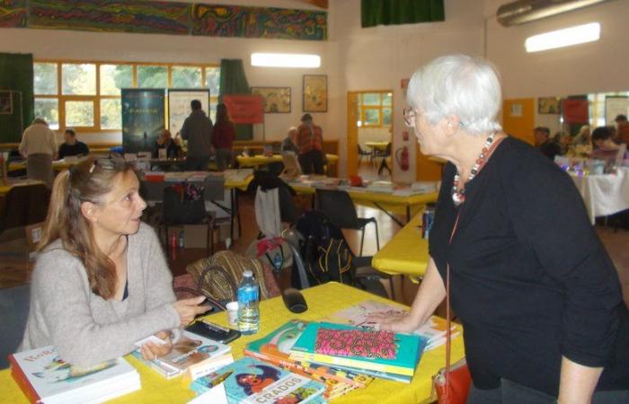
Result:
<svg viewBox="0 0 629 404"><path fill-rule="evenodd" d="M180 376L190 366L194 366L190 371L190 378L194 379L216 368L213 362L231 352L231 349L228 345L183 330L182 337L173 343L173 351L170 354L146 361L142 359L142 354L137 349L133 351L133 356L155 369L166 379Z"/></svg>

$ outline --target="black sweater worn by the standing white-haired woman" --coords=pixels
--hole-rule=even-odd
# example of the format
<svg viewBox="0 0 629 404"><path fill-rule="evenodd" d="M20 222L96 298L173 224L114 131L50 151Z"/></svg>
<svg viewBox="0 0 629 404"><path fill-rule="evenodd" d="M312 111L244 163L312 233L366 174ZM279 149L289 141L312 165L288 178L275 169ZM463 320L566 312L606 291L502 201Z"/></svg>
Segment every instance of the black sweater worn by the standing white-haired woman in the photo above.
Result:
<svg viewBox="0 0 629 404"><path fill-rule="evenodd" d="M456 208L455 171L446 165L429 248L444 283L450 265L474 385L492 389L505 378L556 395L566 356L606 366L598 390L629 388L618 276L570 176L508 137Z"/></svg>

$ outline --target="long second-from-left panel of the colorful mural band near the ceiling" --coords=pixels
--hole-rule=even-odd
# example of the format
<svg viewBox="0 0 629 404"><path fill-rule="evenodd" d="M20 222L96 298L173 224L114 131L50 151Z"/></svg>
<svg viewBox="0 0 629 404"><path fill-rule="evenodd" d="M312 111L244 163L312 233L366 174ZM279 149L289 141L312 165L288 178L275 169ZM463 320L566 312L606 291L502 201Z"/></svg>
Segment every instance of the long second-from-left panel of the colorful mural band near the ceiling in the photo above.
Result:
<svg viewBox="0 0 629 404"><path fill-rule="evenodd" d="M29 28L187 35L188 5L137 0L29 0Z"/></svg>

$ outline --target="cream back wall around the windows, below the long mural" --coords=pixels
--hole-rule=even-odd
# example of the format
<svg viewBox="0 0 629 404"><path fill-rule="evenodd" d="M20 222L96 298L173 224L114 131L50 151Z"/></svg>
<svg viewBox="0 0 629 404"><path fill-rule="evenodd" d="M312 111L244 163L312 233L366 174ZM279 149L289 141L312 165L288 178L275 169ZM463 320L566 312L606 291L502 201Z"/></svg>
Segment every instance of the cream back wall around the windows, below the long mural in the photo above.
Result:
<svg viewBox="0 0 629 404"><path fill-rule="evenodd" d="M186 0L192 3L193 0ZM320 10L295 0L252 1L226 0L220 4L241 4L263 7L284 7ZM252 86L290 86L291 112L266 114L267 140L281 140L288 127L299 123L302 112L302 77L305 74L324 75L329 60L328 43L314 40L251 40L178 35L128 34L59 30L0 29L0 52L32 53L35 59L72 59L118 62L162 63L220 63L221 58L241 58L245 75ZM322 66L316 69L278 69L253 67L252 52L314 53L322 56ZM334 67L335 69L336 67ZM312 114L323 128L328 126L328 114ZM256 130L256 140L262 131ZM120 142L120 133L80 134L88 143ZM334 133L326 133L333 138Z"/></svg>

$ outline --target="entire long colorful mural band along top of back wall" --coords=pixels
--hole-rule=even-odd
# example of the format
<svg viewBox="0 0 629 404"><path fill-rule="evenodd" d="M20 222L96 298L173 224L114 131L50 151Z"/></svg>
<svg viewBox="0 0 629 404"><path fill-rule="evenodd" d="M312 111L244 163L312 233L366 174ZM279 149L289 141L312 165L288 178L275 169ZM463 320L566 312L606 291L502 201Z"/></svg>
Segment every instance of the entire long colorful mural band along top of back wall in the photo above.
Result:
<svg viewBox="0 0 629 404"><path fill-rule="evenodd" d="M140 0L0 0L0 28L327 40L327 13Z"/></svg>

